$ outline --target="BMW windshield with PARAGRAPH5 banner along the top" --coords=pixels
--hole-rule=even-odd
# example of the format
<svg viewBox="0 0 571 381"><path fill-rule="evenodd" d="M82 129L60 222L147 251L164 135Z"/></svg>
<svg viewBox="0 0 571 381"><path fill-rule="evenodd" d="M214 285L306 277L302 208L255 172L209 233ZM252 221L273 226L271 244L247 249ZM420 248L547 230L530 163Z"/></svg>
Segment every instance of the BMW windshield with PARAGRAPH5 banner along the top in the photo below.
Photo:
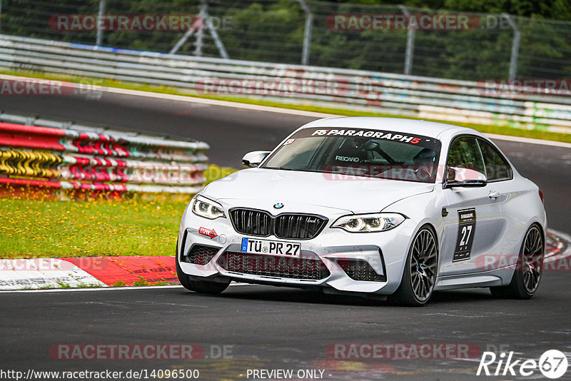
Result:
<svg viewBox="0 0 571 381"><path fill-rule="evenodd" d="M395 131L304 128L261 168L434 183L440 141Z"/></svg>

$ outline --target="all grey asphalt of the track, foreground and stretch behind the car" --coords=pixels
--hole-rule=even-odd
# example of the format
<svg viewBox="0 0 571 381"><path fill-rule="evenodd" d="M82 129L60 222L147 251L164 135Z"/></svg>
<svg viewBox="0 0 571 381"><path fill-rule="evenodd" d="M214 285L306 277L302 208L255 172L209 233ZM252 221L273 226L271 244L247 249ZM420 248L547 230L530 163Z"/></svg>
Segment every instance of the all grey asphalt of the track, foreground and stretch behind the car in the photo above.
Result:
<svg viewBox="0 0 571 381"><path fill-rule="evenodd" d="M271 149L313 119L108 93L98 100L6 96L0 109L196 138L211 144L213 163L234 167L243 153ZM550 228L570 233L571 150L496 143L542 189ZM0 362L24 372L197 369L201 380L246 380L248 369L276 368L324 370L325 380L529 380L477 377L477 358L343 360L327 350L335 343L465 343L515 358L539 360L551 349L569 357L570 271L545 272L532 300L495 300L473 289L436 293L425 308L256 285L217 296L183 288L0 293ZM62 343L193 343L206 353L196 360L54 360L49 349ZM219 358L223 346L231 352ZM534 379L545 378L536 371Z"/></svg>

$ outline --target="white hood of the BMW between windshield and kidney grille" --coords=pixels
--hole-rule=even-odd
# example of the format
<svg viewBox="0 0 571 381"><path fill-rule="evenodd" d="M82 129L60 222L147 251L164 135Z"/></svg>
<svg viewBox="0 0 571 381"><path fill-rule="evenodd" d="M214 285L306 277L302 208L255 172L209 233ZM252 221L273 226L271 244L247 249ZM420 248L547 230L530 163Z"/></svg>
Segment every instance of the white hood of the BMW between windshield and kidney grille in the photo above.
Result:
<svg viewBox="0 0 571 381"><path fill-rule="evenodd" d="M433 191L434 185L378 178L332 179L327 173L252 168L208 185L203 195L232 206L268 210L283 203L282 212L315 205L351 213L379 212L403 198ZM270 209L271 210L271 209ZM277 210L276 210L277 211Z"/></svg>

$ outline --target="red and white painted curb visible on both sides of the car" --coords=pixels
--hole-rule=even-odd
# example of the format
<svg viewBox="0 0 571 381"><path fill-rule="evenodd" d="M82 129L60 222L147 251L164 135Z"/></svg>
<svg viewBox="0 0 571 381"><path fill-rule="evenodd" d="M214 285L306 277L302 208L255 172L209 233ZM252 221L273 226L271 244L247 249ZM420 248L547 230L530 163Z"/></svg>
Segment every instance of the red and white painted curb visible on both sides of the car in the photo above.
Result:
<svg viewBox="0 0 571 381"><path fill-rule="evenodd" d="M546 269L555 266L557 270L571 270L570 235L549 230L546 246ZM177 281L173 256L0 259L2 291L108 288L137 282L138 285L155 285Z"/></svg>

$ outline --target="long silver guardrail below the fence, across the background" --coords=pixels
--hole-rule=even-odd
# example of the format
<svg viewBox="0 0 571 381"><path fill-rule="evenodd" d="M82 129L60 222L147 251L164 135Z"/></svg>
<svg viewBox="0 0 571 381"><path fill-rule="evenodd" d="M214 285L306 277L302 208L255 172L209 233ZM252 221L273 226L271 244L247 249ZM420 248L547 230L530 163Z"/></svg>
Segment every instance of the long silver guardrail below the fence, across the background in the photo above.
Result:
<svg viewBox="0 0 571 381"><path fill-rule="evenodd" d="M0 35L0 68L175 86L198 93L571 132L571 96L485 82L211 59ZM482 80L485 78L482 78ZM488 78L489 79L489 78ZM490 86L488 83L487 86ZM521 91L521 92L520 92Z"/></svg>

